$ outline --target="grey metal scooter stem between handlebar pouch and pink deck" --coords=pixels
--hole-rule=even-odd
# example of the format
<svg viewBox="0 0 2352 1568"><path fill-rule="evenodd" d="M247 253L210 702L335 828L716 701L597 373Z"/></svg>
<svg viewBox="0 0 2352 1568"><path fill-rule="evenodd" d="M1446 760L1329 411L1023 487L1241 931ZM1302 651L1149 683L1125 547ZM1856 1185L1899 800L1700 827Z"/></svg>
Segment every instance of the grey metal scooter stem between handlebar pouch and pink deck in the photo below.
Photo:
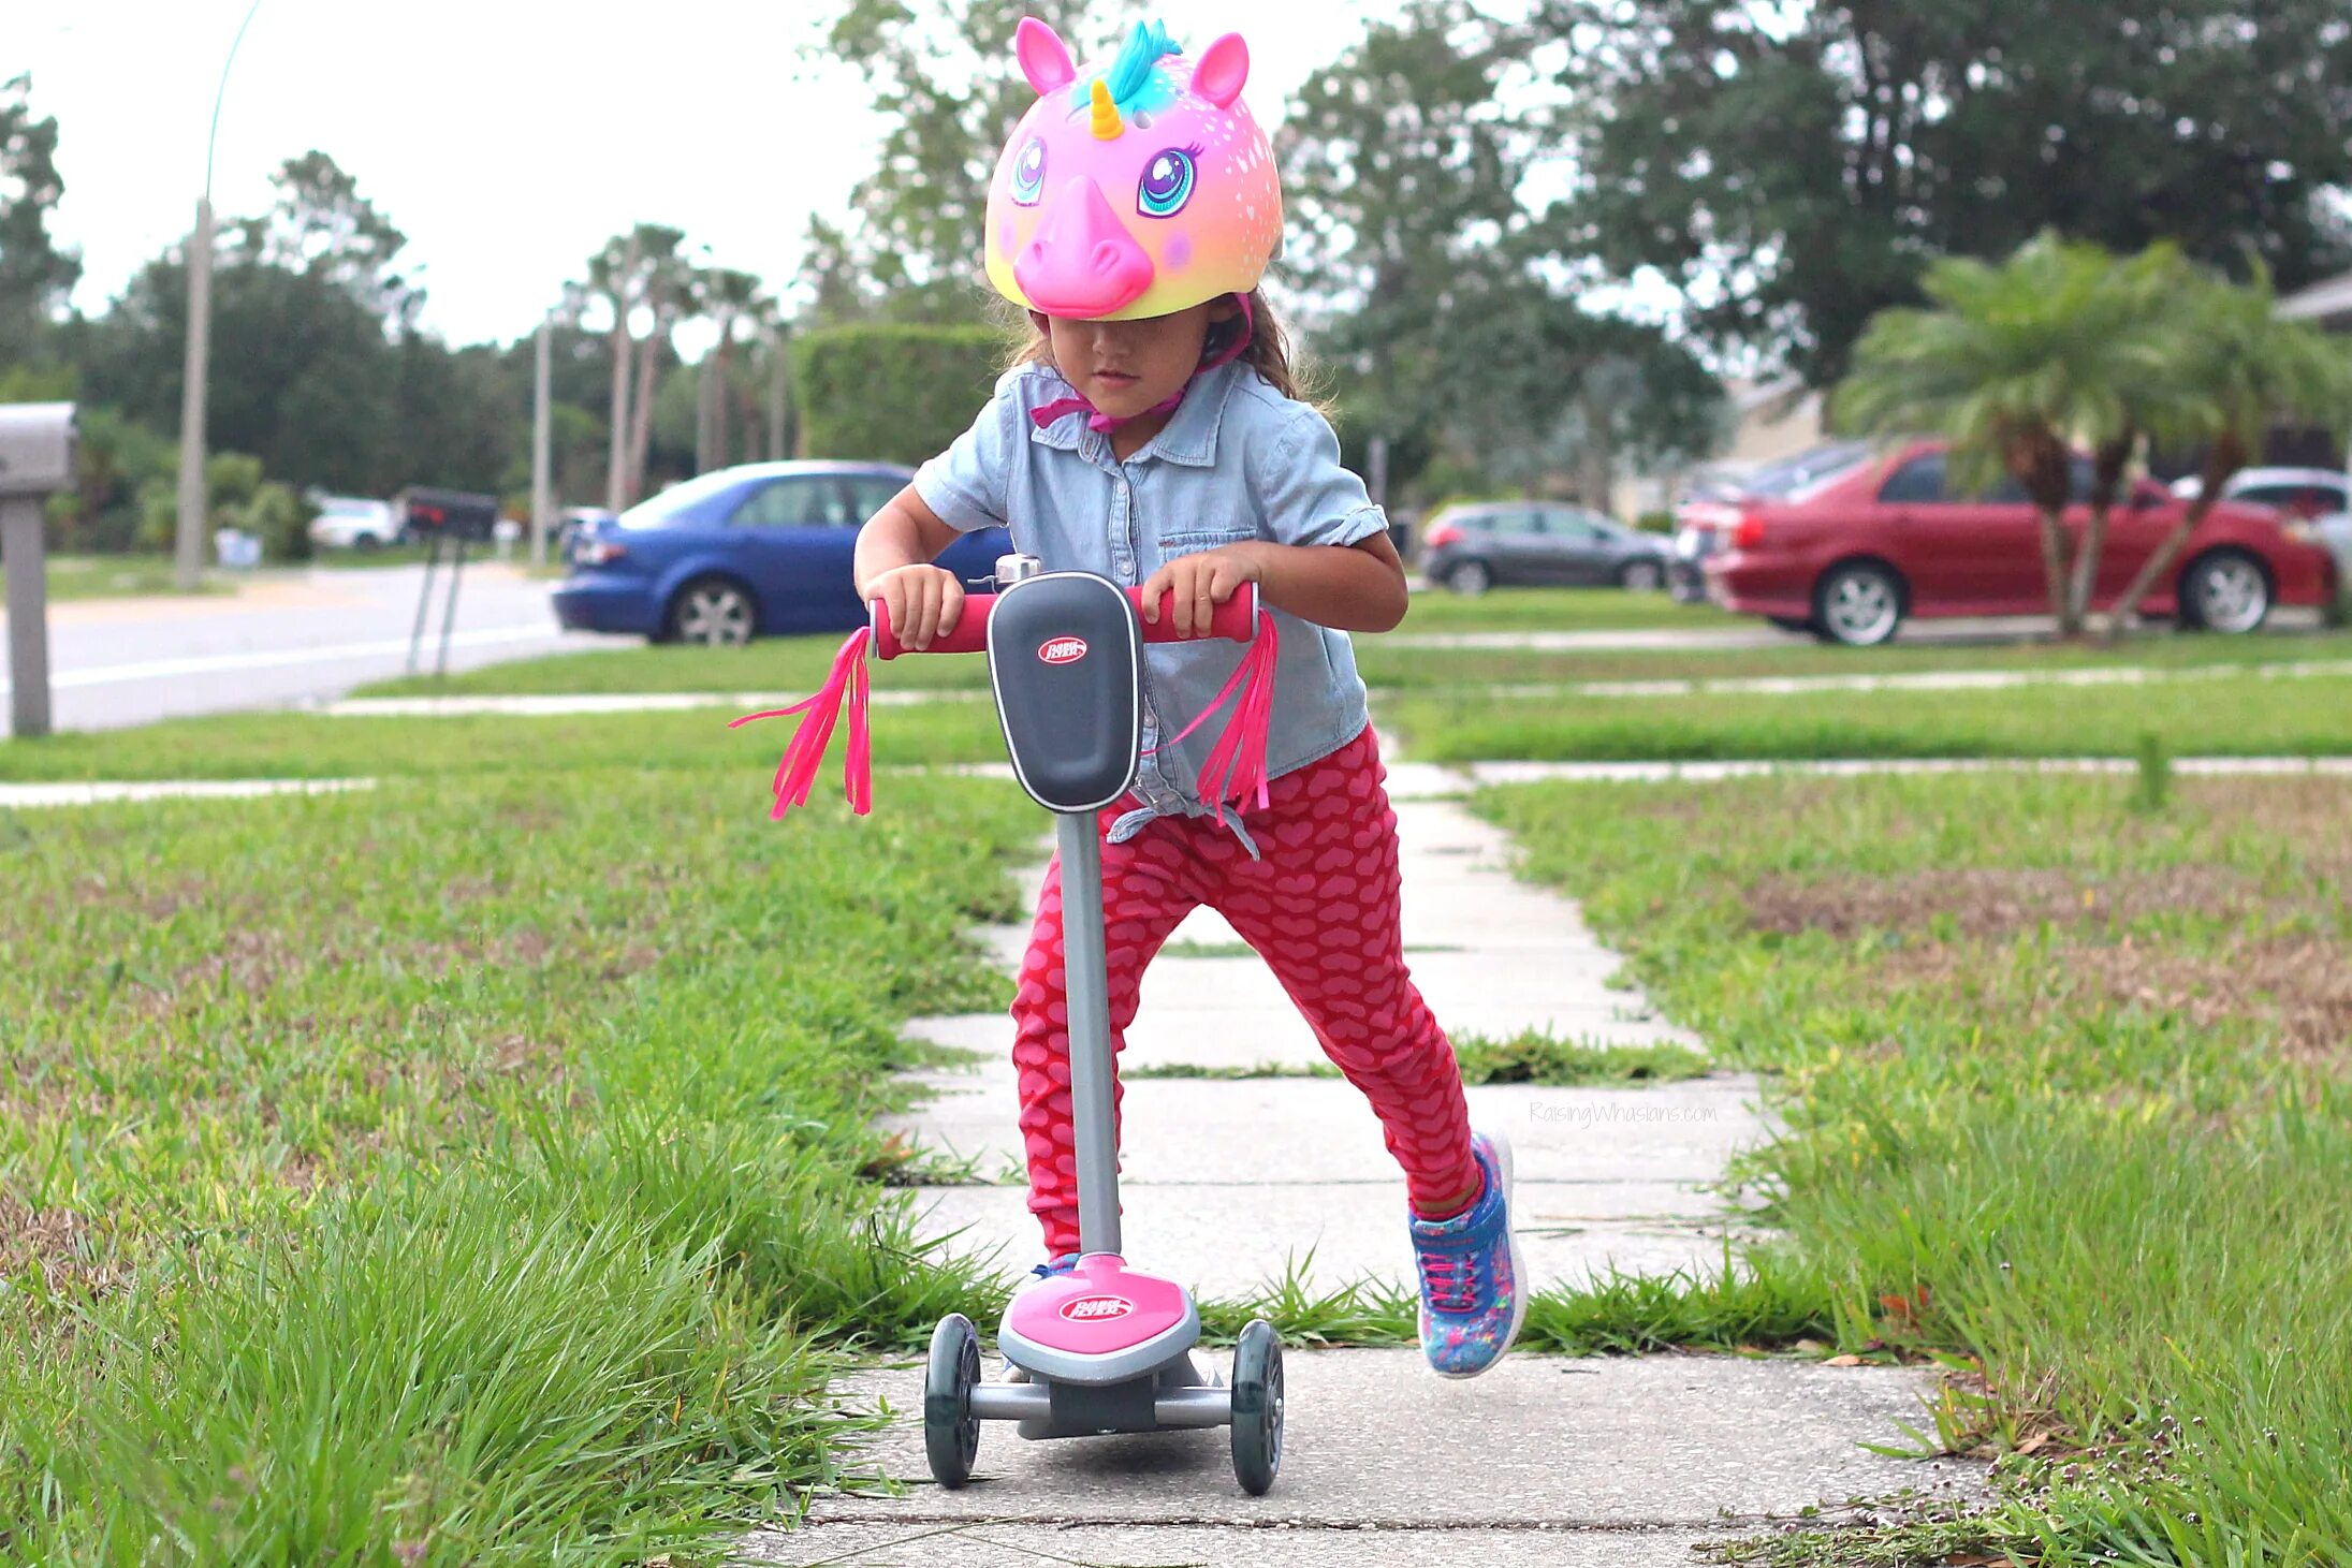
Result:
<svg viewBox="0 0 2352 1568"><path fill-rule="evenodd" d="M1120 1251L1120 1131L1103 964L1103 844L1094 813L1054 813L1061 849L1061 947L1070 997L1070 1121L1077 1159L1077 1248Z"/></svg>

